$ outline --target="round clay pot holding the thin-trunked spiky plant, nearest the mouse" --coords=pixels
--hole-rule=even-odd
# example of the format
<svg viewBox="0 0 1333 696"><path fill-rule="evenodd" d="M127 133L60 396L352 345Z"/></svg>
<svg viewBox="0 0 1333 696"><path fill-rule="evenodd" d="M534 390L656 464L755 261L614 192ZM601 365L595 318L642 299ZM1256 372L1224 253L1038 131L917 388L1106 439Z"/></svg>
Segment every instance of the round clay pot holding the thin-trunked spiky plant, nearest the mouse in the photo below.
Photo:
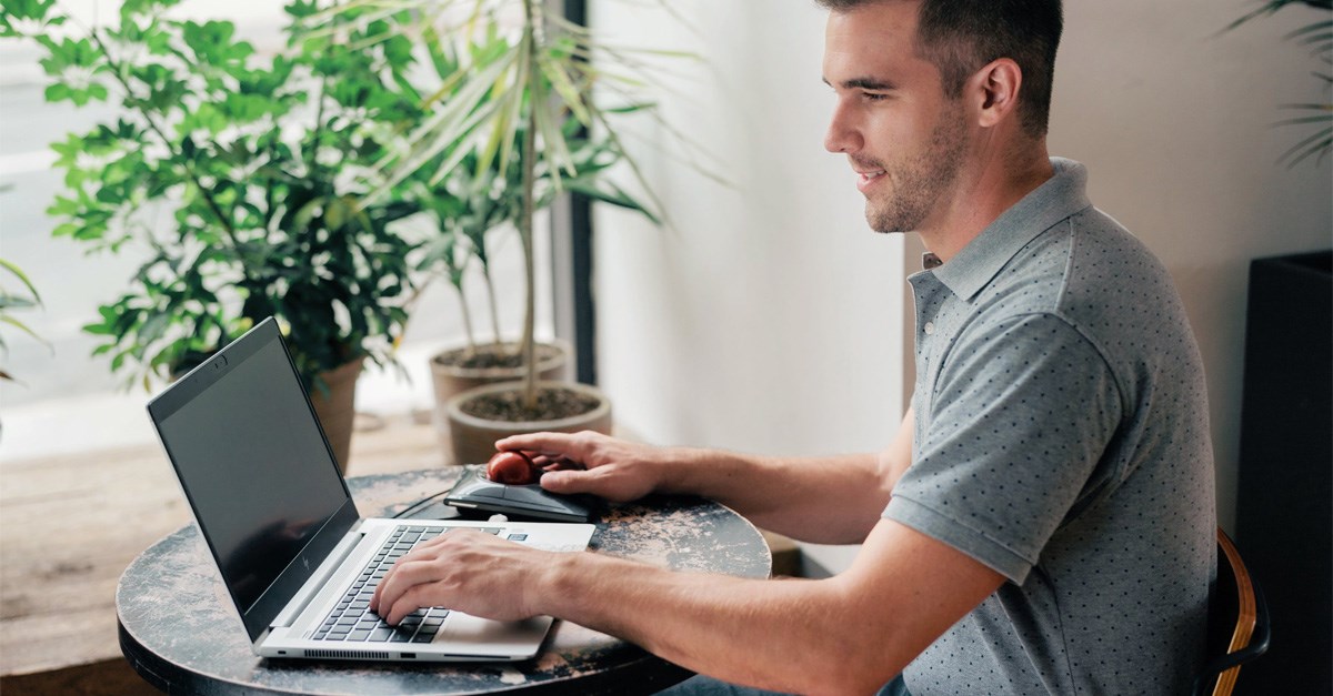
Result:
<svg viewBox="0 0 1333 696"><path fill-rule="evenodd" d="M564 388L592 396L599 400L599 405L592 411L559 420L528 420L511 423L503 420L480 419L463 412L463 404L495 392L523 389L521 381L488 384L468 389L455 395L445 404L445 413L449 424L449 439L455 464L481 464L496 452L496 440L511 435L528 432L580 432L596 431L611 435L611 400L596 387L572 381L543 381L537 388Z"/></svg>

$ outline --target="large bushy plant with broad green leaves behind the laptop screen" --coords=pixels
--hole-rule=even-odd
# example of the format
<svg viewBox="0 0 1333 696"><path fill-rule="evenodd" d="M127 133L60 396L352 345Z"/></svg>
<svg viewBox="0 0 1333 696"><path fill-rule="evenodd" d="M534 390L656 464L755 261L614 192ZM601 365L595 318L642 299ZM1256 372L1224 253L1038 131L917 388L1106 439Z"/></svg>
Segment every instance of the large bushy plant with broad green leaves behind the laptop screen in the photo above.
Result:
<svg viewBox="0 0 1333 696"><path fill-rule="evenodd" d="M175 4L127 0L113 27L80 27L51 0L7 0L0 16L0 36L44 49L48 101L117 107L52 145L55 235L147 256L85 331L147 387L276 316L345 465L349 387L367 359L392 363L408 316L405 221L443 195L375 167L439 108L416 87L427 71L407 37L380 37L392 17L305 33L324 8L296 0L287 49L264 57L228 21L172 19Z"/></svg>

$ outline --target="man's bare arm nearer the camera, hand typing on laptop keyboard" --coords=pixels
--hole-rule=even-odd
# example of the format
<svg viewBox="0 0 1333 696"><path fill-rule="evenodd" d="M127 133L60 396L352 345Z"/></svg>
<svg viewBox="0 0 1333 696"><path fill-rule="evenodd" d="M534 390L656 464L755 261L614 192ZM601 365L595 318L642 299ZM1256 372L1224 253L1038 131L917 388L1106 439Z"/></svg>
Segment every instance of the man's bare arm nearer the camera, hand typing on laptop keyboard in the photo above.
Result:
<svg viewBox="0 0 1333 696"><path fill-rule="evenodd" d="M717 679L797 693L873 693L1004 577L881 520L826 580L665 571L451 532L405 556L372 608L391 623L441 604L496 619L547 613Z"/></svg>

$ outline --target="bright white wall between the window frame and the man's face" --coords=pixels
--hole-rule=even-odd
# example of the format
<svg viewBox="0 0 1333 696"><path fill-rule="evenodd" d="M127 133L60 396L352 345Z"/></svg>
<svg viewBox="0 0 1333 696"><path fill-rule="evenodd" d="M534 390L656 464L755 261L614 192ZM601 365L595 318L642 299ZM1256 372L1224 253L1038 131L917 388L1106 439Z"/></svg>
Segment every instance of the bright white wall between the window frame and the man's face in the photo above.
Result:
<svg viewBox="0 0 1333 696"><path fill-rule="evenodd" d="M901 244L866 228L850 169L822 148L822 12L672 3L692 32L627 5L595 4L595 21L705 59L670 63L664 112L732 188L644 147L672 227L599 211L599 371L617 423L750 452L882 447L900 419Z"/></svg>

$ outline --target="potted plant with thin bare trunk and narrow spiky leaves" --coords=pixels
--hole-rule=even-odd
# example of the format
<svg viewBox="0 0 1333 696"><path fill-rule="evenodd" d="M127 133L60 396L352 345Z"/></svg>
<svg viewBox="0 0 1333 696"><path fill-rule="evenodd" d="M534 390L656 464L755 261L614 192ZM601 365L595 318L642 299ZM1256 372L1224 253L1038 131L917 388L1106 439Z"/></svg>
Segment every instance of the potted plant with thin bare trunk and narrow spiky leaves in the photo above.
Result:
<svg viewBox="0 0 1333 696"><path fill-rule="evenodd" d="M589 57L601 47L587 28L551 16L545 3L408 0L381 5L365 0L352 7L404 5L423 17L411 33L461 60L457 73L437 91L447 96L444 107L412 133L412 148L388 163L388 181L419 176L421 171L435 179L471 171L477 189L493 196L488 204L503 209L501 219L515 224L524 256L527 295L519 341L523 380L477 387L449 399L445 411L455 461L484 461L495 452L495 440L512 432L609 432L611 405L600 391L537 379L533 216L557 192L579 191L657 221L649 205L603 176L617 163L627 163L643 183L609 116L651 108L637 103L607 108L595 101L592 88L604 73ZM449 25L451 19L457 21ZM440 24L449 27L440 31ZM455 49L459 43L463 48ZM460 231L441 241L449 249L444 264L457 268L465 263L451 243L484 249L463 240L488 229L496 228L481 224L471 233Z"/></svg>

